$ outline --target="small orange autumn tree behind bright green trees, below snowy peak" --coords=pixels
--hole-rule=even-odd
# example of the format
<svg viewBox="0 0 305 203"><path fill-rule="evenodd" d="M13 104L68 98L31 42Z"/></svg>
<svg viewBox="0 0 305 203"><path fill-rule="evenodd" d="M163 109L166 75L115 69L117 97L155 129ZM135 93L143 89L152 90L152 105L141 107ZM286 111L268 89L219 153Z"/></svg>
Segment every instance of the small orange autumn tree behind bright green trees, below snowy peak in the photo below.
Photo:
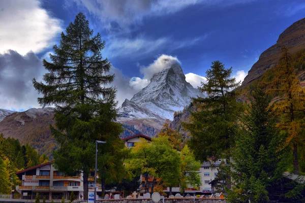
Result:
<svg viewBox="0 0 305 203"><path fill-rule="evenodd" d="M157 137L168 137L169 143L173 145L174 149L181 151L183 148L183 143L181 142L181 135L172 128L171 121L169 119L165 120L160 132Z"/></svg>

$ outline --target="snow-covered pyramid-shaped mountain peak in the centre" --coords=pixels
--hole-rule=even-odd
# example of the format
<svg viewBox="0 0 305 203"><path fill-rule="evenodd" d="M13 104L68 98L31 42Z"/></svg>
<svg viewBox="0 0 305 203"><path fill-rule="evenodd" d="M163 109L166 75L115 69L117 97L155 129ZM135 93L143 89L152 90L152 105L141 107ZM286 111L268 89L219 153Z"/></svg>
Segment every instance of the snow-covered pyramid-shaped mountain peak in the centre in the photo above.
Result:
<svg viewBox="0 0 305 203"><path fill-rule="evenodd" d="M136 93L131 100L126 99L119 109L119 120L136 118L173 119L175 111L188 106L191 97L199 91L186 81L177 61L163 59L163 70L151 78L150 83Z"/></svg>

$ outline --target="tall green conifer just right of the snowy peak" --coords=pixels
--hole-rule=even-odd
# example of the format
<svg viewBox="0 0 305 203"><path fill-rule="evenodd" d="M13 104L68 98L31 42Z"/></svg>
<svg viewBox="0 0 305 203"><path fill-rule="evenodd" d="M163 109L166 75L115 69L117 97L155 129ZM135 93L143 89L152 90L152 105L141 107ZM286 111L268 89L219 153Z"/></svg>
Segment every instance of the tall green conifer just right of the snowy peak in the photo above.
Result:
<svg viewBox="0 0 305 203"><path fill-rule="evenodd" d="M222 62L212 62L206 71L207 82L198 87L207 97L193 98L198 111L191 112L190 122L183 123L191 134L189 146L198 160L230 157L240 110L232 90L239 83L230 78L231 74L232 67L225 69Z"/></svg>

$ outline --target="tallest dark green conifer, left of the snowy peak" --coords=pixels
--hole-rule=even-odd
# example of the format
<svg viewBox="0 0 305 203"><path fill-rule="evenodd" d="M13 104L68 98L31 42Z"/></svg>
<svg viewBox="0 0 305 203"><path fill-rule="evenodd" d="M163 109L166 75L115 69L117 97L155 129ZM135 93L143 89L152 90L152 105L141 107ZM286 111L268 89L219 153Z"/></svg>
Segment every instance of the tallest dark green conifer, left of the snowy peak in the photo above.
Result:
<svg viewBox="0 0 305 203"><path fill-rule="evenodd" d="M95 167L95 141L107 142L99 150L99 157L112 146L117 148L109 153L124 149L118 137L122 128L114 122L115 89L106 87L114 75L107 75L111 64L107 58L102 59L104 46L100 33L93 36L89 22L79 13L66 34L62 33L59 46L53 46L52 62L43 60L49 71L44 75L46 84L33 79L34 87L43 95L38 98L39 104L56 107L55 128L50 126L60 145L54 152L55 167L67 175L83 172L84 199L88 197L88 173Z"/></svg>

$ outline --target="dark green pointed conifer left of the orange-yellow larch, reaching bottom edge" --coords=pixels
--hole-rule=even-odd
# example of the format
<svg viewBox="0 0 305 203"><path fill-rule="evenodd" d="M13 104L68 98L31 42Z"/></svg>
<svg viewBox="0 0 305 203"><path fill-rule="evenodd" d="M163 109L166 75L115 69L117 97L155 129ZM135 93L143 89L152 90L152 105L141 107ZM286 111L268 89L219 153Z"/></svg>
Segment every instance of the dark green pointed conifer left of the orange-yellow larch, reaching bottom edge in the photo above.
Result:
<svg viewBox="0 0 305 203"><path fill-rule="evenodd" d="M233 185L227 189L229 202L286 202L283 174L287 168L285 137L276 127L276 118L262 89L241 119L233 163L228 166ZM229 169L232 167L232 170ZM227 180L230 182L230 180ZM287 188L286 188L287 189ZM296 200L290 199L289 201Z"/></svg>

